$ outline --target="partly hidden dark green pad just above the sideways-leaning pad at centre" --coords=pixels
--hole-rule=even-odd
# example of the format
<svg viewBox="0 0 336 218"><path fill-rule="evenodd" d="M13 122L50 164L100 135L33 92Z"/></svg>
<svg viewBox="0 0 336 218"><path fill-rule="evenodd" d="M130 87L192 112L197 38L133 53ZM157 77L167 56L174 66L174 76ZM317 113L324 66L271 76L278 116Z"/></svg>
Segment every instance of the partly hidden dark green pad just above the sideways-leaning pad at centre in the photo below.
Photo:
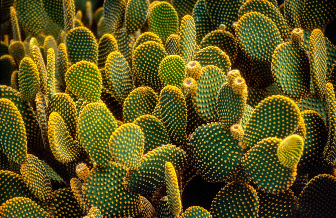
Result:
<svg viewBox="0 0 336 218"><path fill-rule="evenodd" d="M162 144L171 144L166 127L155 116L142 115L133 123L141 128L144 135L144 153L160 147Z"/></svg>

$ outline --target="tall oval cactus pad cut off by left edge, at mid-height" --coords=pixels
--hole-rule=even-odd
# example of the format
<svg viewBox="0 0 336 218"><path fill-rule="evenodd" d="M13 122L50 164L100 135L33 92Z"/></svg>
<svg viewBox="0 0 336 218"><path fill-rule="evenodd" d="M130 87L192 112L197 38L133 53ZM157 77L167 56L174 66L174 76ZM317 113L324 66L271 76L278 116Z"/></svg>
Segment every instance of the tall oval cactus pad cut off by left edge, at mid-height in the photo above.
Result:
<svg viewBox="0 0 336 218"><path fill-rule="evenodd" d="M2 96L1 96L2 97ZM22 163L27 159L27 136L25 124L15 104L1 98L1 150L8 159Z"/></svg>

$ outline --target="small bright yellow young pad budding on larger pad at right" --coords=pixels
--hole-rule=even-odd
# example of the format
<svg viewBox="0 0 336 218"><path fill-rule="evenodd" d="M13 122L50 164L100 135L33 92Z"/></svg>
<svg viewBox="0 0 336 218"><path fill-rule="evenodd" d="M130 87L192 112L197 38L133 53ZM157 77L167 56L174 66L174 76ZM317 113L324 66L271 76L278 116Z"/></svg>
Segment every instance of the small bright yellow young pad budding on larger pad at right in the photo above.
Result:
<svg viewBox="0 0 336 218"><path fill-rule="evenodd" d="M280 142L277 156L284 167L294 169L300 161L302 151L302 137L299 135L290 135Z"/></svg>

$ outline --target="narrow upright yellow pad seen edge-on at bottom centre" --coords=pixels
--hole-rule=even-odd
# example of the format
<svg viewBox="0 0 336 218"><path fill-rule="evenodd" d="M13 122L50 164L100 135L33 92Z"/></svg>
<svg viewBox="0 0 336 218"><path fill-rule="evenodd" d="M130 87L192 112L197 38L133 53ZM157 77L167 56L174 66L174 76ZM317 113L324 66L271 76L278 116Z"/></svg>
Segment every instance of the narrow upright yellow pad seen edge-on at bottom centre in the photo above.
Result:
<svg viewBox="0 0 336 218"><path fill-rule="evenodd" d="M167 185L168 207L173 215L177 215L181 212L182 204L176 172L171 162L166 162L165 176Z"/></svg>

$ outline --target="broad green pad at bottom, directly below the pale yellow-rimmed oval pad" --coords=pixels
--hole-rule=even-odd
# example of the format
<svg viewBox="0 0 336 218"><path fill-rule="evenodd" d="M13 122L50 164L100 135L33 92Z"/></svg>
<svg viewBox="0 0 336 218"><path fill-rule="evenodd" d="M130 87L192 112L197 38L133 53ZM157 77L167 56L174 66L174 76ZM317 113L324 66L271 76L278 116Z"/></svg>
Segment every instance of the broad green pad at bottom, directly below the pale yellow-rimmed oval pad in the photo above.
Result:
<svg viewBox="0 0 336 218"><path fill-rule="evenodd" d="M126 168L115 162L95 166L83 183L82 193L89 207L97 207L104 217L135 217L140 212L140 195L124 188Z"/></svg>

